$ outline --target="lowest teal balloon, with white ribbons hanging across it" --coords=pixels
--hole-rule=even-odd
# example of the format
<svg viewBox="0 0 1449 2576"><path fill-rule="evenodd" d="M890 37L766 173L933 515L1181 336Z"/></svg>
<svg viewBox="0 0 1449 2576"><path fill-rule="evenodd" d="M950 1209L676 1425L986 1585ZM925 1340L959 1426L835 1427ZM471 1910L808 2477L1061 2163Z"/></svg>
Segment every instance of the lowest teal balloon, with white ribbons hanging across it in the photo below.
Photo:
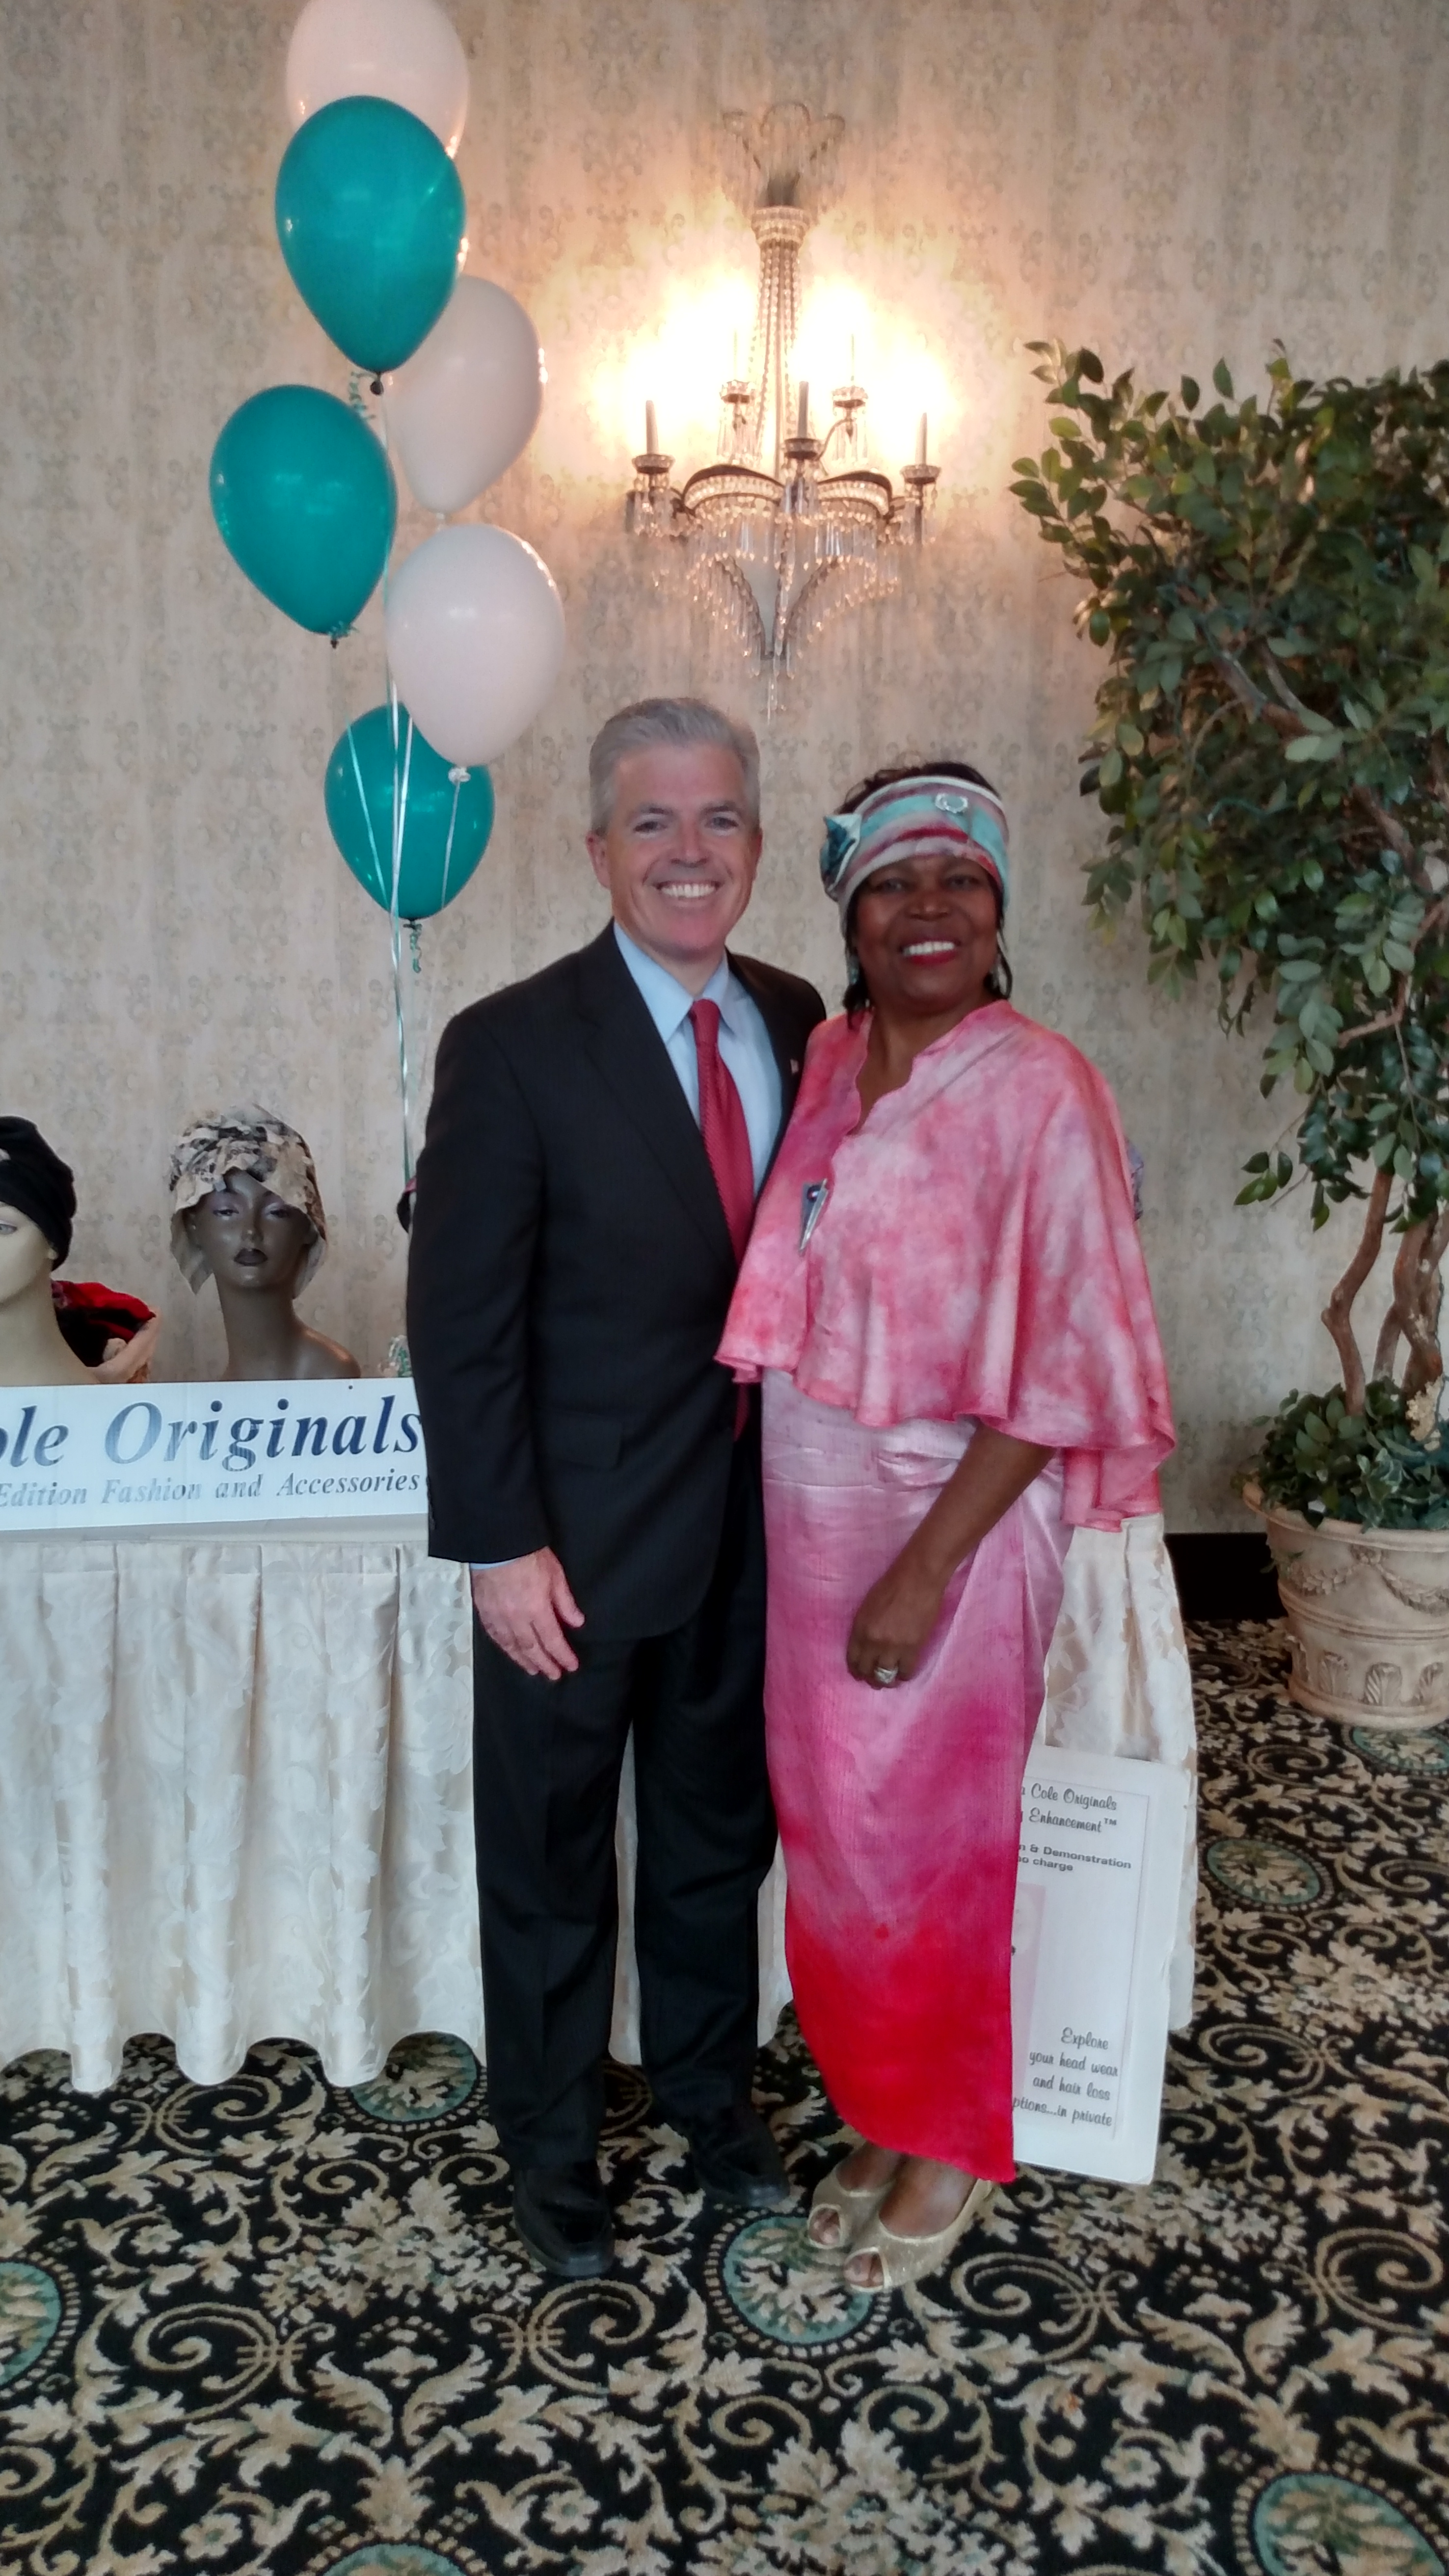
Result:
<svg viewBox="0 0 1449 2576"><path fill-rule="evenodd" d="M454 811L456 793L456 811ZM462 786L441 752L397 708L371 706L340 734L327 760L327 822L333 840L374 904L392 912L392 814L402 806L402 863L397 912L425 922L462 894L492 835L492 778L469 770ZM449 848L451 835L451 848Z"/></svg>

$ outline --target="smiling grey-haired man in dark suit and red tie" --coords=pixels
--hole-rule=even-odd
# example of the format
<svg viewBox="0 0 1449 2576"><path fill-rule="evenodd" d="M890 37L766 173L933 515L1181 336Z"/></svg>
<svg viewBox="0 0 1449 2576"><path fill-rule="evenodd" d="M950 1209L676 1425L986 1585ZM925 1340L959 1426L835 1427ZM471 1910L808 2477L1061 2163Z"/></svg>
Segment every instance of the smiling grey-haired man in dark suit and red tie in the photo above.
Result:
<svg viewBox="0 0 1449 2576"><path fill-rule="evenodd" d="M614 1811L634 1731L645 2071L709 2200L784 2205L750 2105L763 1757L755 1399L714 1350L825 1015L727 956L758 747L696 698L614 716L588 853L614 920L438 1046L407 1285L431 1548L472 1564L490 2107L544 2269L603 2272Z"/></svg>

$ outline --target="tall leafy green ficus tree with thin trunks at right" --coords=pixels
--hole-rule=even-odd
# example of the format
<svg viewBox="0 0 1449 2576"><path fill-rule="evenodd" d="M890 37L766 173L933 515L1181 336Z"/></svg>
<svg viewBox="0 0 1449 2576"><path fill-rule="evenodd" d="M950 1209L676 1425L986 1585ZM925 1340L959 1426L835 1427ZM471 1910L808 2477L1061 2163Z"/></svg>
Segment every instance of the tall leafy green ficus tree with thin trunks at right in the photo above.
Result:
<svg viewBox="0 0 1449 2576"><path fill-rule="evenodd" d="M1098 917L1137 896L1150 974L1204 961L1220 1018L1269 1018L1263 1095L1294 1108L1240 1200L1312 1182L1364 1203L1323 1321L1343 1396L1441 1378L1449 1249L1449 363L1372 384L1269 366L1263 404L1214 368L1204 407L1109 386L1034 343L1052 440L1013 492L1083 582L1109 652L1083 793L1111 817ZM1369 1368L1354 1298L1400 1234Z"/></svg>

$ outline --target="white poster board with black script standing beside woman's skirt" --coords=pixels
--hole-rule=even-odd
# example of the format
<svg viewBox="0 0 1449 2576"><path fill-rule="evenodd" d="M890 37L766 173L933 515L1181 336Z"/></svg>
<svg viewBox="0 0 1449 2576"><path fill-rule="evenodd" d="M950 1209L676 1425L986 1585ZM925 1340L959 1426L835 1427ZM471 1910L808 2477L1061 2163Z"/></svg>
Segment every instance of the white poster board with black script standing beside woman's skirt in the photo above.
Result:
<svg viewBox="0 0 1449 2576"><path fill-rule="evenodd" d="M1189 1775L1034 1744L1011 1935L1018 2164L1150 2182Z"/></svg>

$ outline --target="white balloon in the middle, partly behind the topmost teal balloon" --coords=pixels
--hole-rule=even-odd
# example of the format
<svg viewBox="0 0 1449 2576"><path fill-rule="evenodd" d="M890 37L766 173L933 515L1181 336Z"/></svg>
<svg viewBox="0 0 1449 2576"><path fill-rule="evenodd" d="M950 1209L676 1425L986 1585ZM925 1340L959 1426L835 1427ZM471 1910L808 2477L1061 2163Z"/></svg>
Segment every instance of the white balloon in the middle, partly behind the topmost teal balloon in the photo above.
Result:
<svg viewBox="0 0 1449 2576"><path fill-rule="evenodd" d="M387 376L387 428L425 510L462 510L523 453L539 420L539 335L487 278L459 278L441 322Z"/></svg>

